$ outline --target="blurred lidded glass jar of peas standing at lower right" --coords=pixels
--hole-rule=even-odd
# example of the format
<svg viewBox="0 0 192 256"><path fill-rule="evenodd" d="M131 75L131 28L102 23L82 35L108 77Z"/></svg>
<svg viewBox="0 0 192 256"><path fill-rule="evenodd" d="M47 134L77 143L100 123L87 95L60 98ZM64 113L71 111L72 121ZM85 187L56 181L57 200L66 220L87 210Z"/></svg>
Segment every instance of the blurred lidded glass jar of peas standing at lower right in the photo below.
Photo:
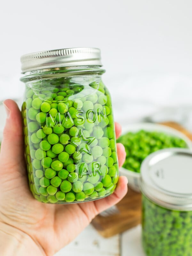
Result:
<svg viewBox="0 0 192 256"><path fill-rule="evenodd" d="M163 149L141 165L142 243L148 256L192 255L192 153Z"/></svg>

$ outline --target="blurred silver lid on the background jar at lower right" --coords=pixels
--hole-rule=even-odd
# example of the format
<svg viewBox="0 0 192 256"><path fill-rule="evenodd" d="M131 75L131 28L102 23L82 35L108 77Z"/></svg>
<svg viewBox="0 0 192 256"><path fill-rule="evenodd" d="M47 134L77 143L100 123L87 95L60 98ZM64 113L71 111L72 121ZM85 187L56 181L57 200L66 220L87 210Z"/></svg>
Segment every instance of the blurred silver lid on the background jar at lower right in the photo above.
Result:
<svg viewBox="0 0 192 256"><path fill-rule="evenodd" d="M141 164L141 192L168 209L192 210L192 152L169 148L150 154Z"/></svg>

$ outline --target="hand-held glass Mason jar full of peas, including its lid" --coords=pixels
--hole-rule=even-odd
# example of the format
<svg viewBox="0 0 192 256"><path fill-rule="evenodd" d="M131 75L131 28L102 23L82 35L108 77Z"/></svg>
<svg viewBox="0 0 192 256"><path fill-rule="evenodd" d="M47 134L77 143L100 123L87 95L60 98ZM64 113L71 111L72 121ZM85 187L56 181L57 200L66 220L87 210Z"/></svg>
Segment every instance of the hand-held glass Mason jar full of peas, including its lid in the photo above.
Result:
<svg viewBox="0 0 192 256"><path fill-rule="evenodd" d="M72 48L21 57L29 187L40 202L96 200L119 177L108 89L100 50Z"/></svg>

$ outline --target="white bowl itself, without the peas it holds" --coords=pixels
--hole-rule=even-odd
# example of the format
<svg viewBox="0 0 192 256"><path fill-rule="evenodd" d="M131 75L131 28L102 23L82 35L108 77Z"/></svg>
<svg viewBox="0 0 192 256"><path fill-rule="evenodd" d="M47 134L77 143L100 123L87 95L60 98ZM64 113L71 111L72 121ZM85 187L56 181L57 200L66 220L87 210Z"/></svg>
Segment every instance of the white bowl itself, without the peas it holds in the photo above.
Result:
<svg viewBox="0 0 192 256"><path fill-rule="evenodd" d="M187 148L192 150L192 141L188 139L183 133L162 125L162 124L152 124L152 123L137 123L137 124L128 124L122 127L122 135L127 132L138 132L140 130L145 130L148 132L156 131L156 132L164 132L170 136L178 137L184 140L187 144ZM119 170L120 175L126 176L128 179L128 186L133 190L140 192L139 182L140 182L140 173L133 172L123 167Z"/></svg>

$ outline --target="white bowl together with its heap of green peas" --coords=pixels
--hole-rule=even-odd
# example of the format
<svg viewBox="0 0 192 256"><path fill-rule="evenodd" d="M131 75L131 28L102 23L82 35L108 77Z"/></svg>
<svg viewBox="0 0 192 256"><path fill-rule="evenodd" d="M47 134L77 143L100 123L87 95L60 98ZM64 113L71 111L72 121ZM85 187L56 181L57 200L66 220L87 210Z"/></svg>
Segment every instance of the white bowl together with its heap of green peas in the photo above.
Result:
<svg viewBox="0 0 192 256"><path fill-rule="evenodd" d="M120 174L128 178L128 185L140 191L140 164L151 153L163 148L188 148L192 142L183 133L161 124L137 123L123 126L117 140L126 150L126 160Z"/></svg>

